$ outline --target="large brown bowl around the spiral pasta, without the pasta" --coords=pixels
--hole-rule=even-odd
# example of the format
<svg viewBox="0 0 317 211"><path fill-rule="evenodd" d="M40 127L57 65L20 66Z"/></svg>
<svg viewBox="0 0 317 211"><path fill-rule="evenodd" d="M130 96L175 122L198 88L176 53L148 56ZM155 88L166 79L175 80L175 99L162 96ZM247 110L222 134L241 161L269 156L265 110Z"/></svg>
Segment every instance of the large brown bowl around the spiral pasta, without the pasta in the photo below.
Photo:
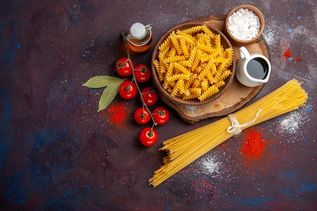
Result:
<svg viewBox="0 0 317 211"><path fill-rule="evenodd" d="M177 30L184 30L193 26L198 26L198 25L204 25L205 23L184 23L184 24L180 24L177 25L173 28L171 28L170 30L168 30L159 40L159 42L156 44L155 48L154 48L154 52L152 54L152 58L151 61L157 59L157 56L159 55L159 46L163 43L163 41L166 39L166 37L172 33L172 31L177 31ZM218 29L212 28L210 27L208 24L206 24L208 26L208 28L214 32L215 34L220 34L221 36L221 45L223 46L224 49L227 48L232 48L229 40L225 37L225 35L220 32ZM211 96L210 98L207 98L205 100L203 100L202 102L199 99L192 99L192 100L183 100L180 97L171 97L170 93L165 90L162 86L162 82L159 80L159 77L157 76L155 67L153 65L153 63L151 63L151 71L152 71L152 76L153 76L153 85L154 87L157 89L157 91L159 92L159 96L162 98L163 96L165 98L167 98L168 100L170 100L171 102L175 103L175 104L180 104L180 105L187 105L187 106L200 106L200 105L204 105L207 103L210 103L211 101L217 99L220 95L222 95L224 93L224 91L229 87L233 77L234 77L234 71L235 71L235 62L234 62L234 55L233 55L233 62L230 65L230 67L228 68L231 71L231 75L229 75L225 80L225 85L223 87L221 87L219 89L219 92L213 96Z"/></svg>

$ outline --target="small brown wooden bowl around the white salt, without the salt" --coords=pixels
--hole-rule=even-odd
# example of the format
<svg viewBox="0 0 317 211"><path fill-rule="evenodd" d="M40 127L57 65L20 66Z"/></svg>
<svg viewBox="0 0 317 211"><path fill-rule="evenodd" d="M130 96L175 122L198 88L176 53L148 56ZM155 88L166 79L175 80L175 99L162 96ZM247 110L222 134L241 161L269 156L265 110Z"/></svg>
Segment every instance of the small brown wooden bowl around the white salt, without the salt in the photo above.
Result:
<svg viewBox="0 0 317 211"><path fill-rule="evenodd" d="M229 19L229 17L232 15L233 12L236 12L237 10L239 10L241 8L251 10L254 14L256 14L259 17L259 20L260 20L260 25L261 25L260 32L259 32L259 34L256 37L254 37L251 40L240 40L240 39L237 39L230 33L230 31L228 29L228 19ZM224 31L225 35L228 37L228 39L230 40L230 43L232 45L235 45L235 46L247 46L247 45L255 43L260 38L261 34L264 31L264 26L265 26L264 16L263 16L262 12L258 8L254 7L252 5L240 5L240 6L237 6L237 7L233 8L228 13L226 21L225 21L224 26L223 26L223 31Z"/></svg>

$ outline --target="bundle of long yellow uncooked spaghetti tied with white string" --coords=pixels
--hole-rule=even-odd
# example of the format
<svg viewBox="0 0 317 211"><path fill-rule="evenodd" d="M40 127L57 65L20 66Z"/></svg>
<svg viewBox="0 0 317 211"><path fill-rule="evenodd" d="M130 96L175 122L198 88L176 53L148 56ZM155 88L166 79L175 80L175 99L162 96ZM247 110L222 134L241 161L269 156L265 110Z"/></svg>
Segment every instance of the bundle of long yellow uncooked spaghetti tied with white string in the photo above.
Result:
<svg viewBox="0 0 317 211"><path fill-rule="evenodd" d="M243 130L295 110L304 105L307 98L307 93L301 88L301 83L292 79L233 115L240 124L250 122L248 126L242 128ZM149 183L154 187L160 185L182 168L232 137L234 133L227 132L228 126L231 126L231 120L223 117L199 129L165 141L161 150L166 150L168 156L164 158L164 165L154 172Z"/></svg>

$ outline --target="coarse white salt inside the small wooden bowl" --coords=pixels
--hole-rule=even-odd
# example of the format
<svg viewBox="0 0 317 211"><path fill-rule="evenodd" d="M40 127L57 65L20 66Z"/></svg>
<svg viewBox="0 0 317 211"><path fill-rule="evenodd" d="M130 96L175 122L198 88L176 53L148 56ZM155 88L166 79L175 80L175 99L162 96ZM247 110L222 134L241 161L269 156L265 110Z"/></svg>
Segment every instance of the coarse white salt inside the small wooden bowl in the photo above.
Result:
<svg viewBox="0 0 317 211"><path fill-rule="evenodd" d="M259 17L248 9L241 8L228 18L228 29L236 39L251 40L259 34L260 27Z"/></svg>

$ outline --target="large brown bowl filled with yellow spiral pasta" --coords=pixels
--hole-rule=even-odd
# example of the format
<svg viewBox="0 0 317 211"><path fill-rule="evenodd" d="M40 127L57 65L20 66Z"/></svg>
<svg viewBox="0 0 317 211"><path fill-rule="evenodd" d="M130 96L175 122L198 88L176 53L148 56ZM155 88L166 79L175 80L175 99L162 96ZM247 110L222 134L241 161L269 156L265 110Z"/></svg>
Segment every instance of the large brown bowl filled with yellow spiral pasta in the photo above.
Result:
<svg viewBox="0 0 317 211"><path fill-rule="evenodd" d="M207 104L230 85L233 49L218 29L184 23L168 30L152 55L153 84L162 98L186 106Z"/></svg>

